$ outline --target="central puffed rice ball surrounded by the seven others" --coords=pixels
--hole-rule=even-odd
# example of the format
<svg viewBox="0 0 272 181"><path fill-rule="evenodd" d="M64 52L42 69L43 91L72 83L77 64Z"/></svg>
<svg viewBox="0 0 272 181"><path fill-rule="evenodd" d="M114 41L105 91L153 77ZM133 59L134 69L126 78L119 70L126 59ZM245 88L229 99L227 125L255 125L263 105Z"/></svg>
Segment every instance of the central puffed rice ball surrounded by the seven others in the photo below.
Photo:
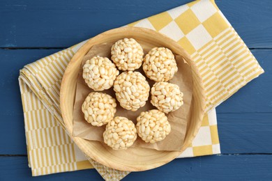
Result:
<svg viewBox="0 0 272 181"><path fill-rule="evenodd" d="M121 107L137 111L149 98L149 83L140 72L123 72L114 81L116 99Z"/></svg>

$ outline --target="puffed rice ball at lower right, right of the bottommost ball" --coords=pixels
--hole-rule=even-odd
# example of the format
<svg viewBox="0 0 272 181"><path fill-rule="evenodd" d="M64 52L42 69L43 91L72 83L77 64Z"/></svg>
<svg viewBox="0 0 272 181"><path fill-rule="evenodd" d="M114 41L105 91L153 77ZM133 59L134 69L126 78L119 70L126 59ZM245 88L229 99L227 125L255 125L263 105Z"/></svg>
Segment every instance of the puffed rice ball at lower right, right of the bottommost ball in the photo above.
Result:
<svg viewBox="0 0 272 181"><path fill-rule="evenodd" d="M153 109L137 117L137 133L146 143L163 141L171 132L171 125L162 111Z"/></svg>

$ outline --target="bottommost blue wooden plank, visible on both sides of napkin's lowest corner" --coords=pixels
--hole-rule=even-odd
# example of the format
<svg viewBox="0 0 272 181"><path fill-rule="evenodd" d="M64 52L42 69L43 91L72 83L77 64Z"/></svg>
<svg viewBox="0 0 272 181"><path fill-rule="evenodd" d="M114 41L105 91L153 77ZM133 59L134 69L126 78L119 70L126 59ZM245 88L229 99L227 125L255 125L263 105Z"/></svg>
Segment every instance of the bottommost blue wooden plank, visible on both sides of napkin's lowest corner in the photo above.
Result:
<svg viewBox="0 0 272 181"><path fill-rule="evenodd" d="M0 180L102 180L94 170L31 178L27 157L0 157ZM165 166L130 173L123 180L271 180L272 155L214 155L176 159Z"/></svg>

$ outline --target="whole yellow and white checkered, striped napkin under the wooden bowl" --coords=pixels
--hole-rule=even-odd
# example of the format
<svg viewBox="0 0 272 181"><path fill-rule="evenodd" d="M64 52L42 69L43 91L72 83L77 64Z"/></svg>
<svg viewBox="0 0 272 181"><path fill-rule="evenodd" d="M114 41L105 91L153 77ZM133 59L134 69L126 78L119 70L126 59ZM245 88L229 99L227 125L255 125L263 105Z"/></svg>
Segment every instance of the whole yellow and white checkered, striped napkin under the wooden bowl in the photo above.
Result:
<svg viewBox="0 0 272 181"><path fill-rule="evenodd" d="M220 153L214 108L264 72L243 40L212 0L194 1L128 26L153 29L176 40L202 75L207 114L192 144L179 157ZM63 129L59 109L61 77L83 44L26 65L20 72L29 166L34 176L93 166L105 180L121 180L128 172L86 158Z"/></svg>

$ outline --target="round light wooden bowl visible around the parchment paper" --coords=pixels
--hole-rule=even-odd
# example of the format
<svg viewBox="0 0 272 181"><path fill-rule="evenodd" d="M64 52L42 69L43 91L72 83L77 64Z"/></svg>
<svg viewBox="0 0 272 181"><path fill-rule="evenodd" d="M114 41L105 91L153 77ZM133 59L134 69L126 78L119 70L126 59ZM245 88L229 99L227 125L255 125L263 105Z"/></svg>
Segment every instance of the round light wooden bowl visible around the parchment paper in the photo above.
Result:
<svg viewBox="0 0 272 181"><path fill-rule="evenodd" d="M174 54L182 55L192 68L193 93L190 108L190 120L187 124L186 137L183 148L180 151L158 151L147 148L129 148L128 150L112 150L107 145L98 141L87 141L79 137L71 136L73 133L73 105L75 100L75 88L77 75L80 70L82 58L93 45L104 42L115 42L122 38L135 38L140 44L149 47L167 47ZM61 113L66 129L78 147L87 156L96 162L120 171L146 171L167 164L185 150L192 139L195 138L204 116L204 89L202 79L195 65L186 51L174 40L150 29L136 27L122 27L112 29L91 38L73 56L68 64L61 82Z"/></svg>

